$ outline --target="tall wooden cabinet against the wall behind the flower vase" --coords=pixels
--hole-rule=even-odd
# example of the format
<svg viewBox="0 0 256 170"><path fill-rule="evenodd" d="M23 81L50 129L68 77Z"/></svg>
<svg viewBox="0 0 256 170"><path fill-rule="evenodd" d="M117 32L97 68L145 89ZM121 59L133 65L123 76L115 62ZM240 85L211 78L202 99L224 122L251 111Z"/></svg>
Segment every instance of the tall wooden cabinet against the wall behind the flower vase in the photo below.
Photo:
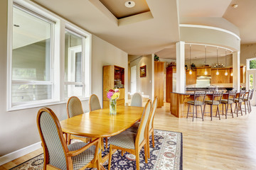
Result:
<svg viewBox="0 0 256 170"><path fill-rule="evenodd" d="M117 105L124 106L124 68L114 65L103 66L103 108L110 107L110 99L107 98L106 90L114 87L118 88L120 93Z"/></svg>

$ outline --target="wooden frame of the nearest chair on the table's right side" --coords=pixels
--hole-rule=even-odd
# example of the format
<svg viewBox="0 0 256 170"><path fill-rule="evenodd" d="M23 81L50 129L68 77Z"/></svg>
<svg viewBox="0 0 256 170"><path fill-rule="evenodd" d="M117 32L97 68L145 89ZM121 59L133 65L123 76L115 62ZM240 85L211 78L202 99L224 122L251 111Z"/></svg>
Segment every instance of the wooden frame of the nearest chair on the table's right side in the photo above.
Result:
<svg viewBox="0 0 256 170"><path fill-rule="evenodd" d="M149 109L151 109L151 100L147 101L146 103L146 106L145 106L145 110L144 110L144 113L146 112L146 108L149 106ZM151 117L151 114L152 112L149 111L149 118ZM142 119L141 119L141 125L144 123L145 121L145 114L143 115ZM149 133L149 118L146 122L146 127L145 127L145 130L144 130L144 140L142 141L142 143L139 145L139 135L142 131L142 126L139 126L139 129L138 129L138 132L137 132L137 137L136 137L136 140L135 140L135 149L126 149L126 148L123 148L123 147L117 147L117 146L114 146L114 145L110 145L110 157L109 157L109 165L108 165L108 170L110 170L110 167L111 167L111 159L112 159L112 149L120 149L124 152L129 152L131 154L134 154L135 157L136 157L136 168L137 170L139 170L139 152L140 150L142 149L142 147L144 147L144 152L145 152L145 162L148 163L148 155L149 154L149 151L148 151L148 147L147 147L147 137L148 137L148 133ZM122 152L123 154L123 152Z"/></svg>

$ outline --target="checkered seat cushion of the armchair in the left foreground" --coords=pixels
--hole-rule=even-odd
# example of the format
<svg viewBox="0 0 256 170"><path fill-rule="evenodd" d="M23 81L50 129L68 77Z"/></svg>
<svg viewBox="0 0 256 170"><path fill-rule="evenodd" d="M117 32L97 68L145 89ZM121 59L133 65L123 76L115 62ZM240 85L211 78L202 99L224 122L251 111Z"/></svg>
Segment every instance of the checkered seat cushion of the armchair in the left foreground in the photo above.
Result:
<svg viewBox="0 0 256 170"><path fill-rule="evenodd" d="M85 145L86 145L85 142L75 142L71 145L68 145L68 149L69 151L74 151L84 147ZM81 169L83 166L91 162L92 159L94 158L94 154L95 154L95 145L92 145L81 154L78 154L75 157L72 157L73 169L74 170Z"/></svg>

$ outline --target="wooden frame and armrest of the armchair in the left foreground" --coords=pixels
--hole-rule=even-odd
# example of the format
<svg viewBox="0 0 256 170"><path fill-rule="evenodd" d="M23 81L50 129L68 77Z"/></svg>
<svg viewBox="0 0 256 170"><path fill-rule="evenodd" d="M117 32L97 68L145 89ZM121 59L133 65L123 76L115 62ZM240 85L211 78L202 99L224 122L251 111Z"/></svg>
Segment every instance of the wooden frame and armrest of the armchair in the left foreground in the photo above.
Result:
<svg viewBox="0 0 256 170"><path fill-rule="evenodd" d="M40 127L40 118L41 118L41 115L42 115L43 112L47 112L47 113L50 114L50 116L53 118L53 121L54 121L54 123L55 123L55 125L58 129L58 137L60 138L60 142L61 142L61 145L63 147L63 152L65 154L65 162L66 162L66 165L67 165L67 169L70 169L70 170L73 169L73 161L72 161L71 157L75 157L76 155L84 152L86 149L88 149L92 145L96 146L96 148L95 148L95 157L94 157L94 159L92 159L92 161L90 163L83 166L81 168L81 170L85 169L87 166L90 166L91 164L95 164L95 163L97 164L97 169L100 169L100 159L99 159L99 154L97 152L99 150L100 138L97 138L97 139L93 140L89 144L85 145L85 147L82 147L78 150L69 151L68 146L66 145L66 141L63 137L63 131L61 130L60 121L58 120L57 116L55 115L55 113L50 108L41 108L38 111L36 123L37 123L37 126L38 126L38 131L39 131L39 135L41 137L42 146L43 146L43 153L44 153L43 154L43 156L44 156L43 169L44 170L46 170L46 169L58 169L57 167L52 166L52 165L49 164L48 148L46 146L46 141L43 138L43 133L42 133L42 130L41 130L41 127Z"/></svg>

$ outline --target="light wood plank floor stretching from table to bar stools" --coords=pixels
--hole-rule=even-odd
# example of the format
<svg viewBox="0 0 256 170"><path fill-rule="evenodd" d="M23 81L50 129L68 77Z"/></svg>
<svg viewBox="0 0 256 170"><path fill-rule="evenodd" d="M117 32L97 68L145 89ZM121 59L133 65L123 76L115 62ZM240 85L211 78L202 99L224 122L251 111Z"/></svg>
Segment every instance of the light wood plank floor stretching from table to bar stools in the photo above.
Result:
<svg viewBox="0 0 256 170"><path fill-rule="evenodd" d="M256 169L256 107L252 113L225 120L209 117L175 118L169 104L156 110L154 128L183 133L183 169ZM0 170L25 162L42 149L0 166Z"/></svg>

